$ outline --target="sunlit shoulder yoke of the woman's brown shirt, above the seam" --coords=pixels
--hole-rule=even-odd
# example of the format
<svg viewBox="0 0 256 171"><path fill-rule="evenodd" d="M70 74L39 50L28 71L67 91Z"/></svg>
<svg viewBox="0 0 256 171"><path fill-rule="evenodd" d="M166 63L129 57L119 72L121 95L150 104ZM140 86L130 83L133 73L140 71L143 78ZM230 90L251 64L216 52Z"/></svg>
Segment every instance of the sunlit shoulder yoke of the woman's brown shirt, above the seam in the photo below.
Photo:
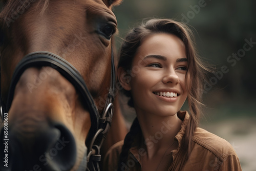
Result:
<svg viewBox="0 0 256 171"><path fill-rule="evenodd" d="M215 154L218 158L225 158L229 155L237 156L236 151L228 141L200 127L196 129L193 141Z"/></svg>

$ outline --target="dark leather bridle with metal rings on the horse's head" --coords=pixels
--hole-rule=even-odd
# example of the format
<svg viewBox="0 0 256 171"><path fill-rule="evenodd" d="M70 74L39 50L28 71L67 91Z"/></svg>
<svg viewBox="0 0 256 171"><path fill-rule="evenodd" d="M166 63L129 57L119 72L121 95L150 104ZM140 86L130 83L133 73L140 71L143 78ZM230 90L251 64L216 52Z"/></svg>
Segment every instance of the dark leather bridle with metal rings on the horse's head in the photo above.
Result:
<svg viewBox="0 0 256 171"><path fill-rule="evenodd" d="M11 80L7 104L5 105L2 99L0 87L0 105L1 117L4 120L3 114L10 109L16 84L23 72L30 67L52 67L69 80L76 90L80 93L82 104L84 104L90 112L91 129L89 131L86 144L88 144L87 153L87 170L100 170L99 161L101 160L100 147L106 135L109 132L113 115L113 101L115 90L115 66L113 49L111 51L111 83L108 96L106 97L105 107L102 115L99 114L93 97L86 86L81 74L67 60L60 56L47 51L37 51L26 55L17 65ZM1 72L0 72L1 78ZM1 80L0 80L1 81Z"/></svg>

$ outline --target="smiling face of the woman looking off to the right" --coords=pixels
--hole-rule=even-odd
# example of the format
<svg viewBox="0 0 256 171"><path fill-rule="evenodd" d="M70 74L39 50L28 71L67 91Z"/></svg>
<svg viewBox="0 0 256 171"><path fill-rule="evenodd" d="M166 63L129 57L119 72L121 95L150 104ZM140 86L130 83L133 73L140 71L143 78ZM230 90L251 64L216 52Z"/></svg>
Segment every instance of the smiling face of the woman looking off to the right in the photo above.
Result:
<svg viewBox="0 0 256 171"><path fill-rule="evenodd" d="M136 112L175 115L187 98L185 46L173 34L148 36L133 59L131 90Z"/></svg>

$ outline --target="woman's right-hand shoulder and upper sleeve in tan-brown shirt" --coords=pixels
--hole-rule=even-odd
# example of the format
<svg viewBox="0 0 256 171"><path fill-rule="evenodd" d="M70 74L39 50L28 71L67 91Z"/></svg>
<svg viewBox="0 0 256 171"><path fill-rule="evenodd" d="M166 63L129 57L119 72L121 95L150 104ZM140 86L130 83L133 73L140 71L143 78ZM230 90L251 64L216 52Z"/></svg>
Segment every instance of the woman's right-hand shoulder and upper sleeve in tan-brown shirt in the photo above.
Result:
<svg viewBox="0 0 256 171"><path fill-rule="evenodd" d="M195 170L242 170L236 151L225 139L198 127L193 141L184 170L191 167Z"/></svg>

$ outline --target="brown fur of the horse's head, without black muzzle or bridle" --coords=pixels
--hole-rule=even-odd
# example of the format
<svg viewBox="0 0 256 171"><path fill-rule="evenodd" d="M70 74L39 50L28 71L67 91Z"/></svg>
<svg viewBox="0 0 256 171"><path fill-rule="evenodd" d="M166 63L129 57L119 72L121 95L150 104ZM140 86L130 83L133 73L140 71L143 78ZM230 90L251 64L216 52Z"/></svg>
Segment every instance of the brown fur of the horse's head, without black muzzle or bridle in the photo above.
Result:
<svg viewBox="0 0 256 171"><path fill-rule="evenodd" d="M0 13L4 33L1 46L3 100L7 100L17 63L28 53L49 51L68 60L81 73L99 112L102 112L103 106L99 102L108 93L110 85L112 38L108 40L96 30L106 23L111 23L117 29L111 7L120 2L2 1L5 4ZM115 118L123 120L120 113ZM77 157L71 170L76 170L86 153L84 142L91 126L90 114L81 104L73 85L59 72L49 67L29 68L15 88L8 113L9 134L12 132L23 148L30 152L33 145L40 146L34 144L38 132L53 122L62 123L74 136ZM114 141L109 141L106 148L125 136L126 130L121 130L123 132L119 138L116 136ZM33 155L33 152L29 154Z"/></svg>

